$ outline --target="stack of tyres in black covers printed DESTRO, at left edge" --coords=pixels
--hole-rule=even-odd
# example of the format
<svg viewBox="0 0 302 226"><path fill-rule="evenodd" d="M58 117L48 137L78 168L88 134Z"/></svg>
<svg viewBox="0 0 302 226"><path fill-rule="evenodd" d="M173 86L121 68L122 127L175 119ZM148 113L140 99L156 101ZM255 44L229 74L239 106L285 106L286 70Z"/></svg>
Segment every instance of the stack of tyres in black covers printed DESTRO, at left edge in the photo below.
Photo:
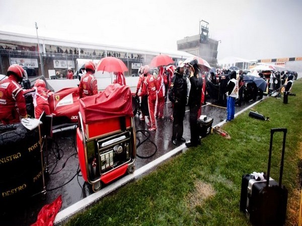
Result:
<svg viewBox="0 0 302 226"><path fill-rule="evenodd" d="M38 128L0 126L0 172L1 203L19 202L43 190Z"/></svg>

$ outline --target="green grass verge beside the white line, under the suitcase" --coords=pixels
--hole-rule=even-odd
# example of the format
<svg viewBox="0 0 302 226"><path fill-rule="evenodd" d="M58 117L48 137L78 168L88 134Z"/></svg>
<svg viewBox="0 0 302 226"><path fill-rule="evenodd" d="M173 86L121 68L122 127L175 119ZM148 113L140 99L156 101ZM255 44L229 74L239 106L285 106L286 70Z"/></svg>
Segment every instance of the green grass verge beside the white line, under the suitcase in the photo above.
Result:
<svg viewBox="0 0 302 226"><path fill-rule="evenodd" d="M269 97L224 125L231 140L212 134L202 145L167 161L143 178L104 197L66 225L250 225L239 211L243 174L267 171L271 128L287 128L282 183L289 192L286 225L297 224L302 136L302 80L288 104ZM274 135L271 177L278 180L282 135ZM199 186L197 186L199 185ZM204 189L203 189L204 188ZM205 188L210 188L205 191Z"/></svg>

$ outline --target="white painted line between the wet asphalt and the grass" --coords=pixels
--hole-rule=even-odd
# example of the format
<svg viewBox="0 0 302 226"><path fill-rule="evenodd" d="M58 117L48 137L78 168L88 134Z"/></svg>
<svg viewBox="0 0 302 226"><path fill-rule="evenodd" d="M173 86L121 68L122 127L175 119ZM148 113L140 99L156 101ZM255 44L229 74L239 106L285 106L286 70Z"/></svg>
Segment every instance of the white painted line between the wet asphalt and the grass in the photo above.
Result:
<svg viewBox="0 0 302 226"><path fill-rule="evenodd" d="M235 114L235 117L239 116L245 110L253 107L254 105L259 103L260 101L262 101L262 100L258 100L257 102L255 102L255 103L249 105L248 107L242 109L241 111L237 112ZM216 126L221 127L224 123L226 123L226 122L222 121L222 122L218 123ZM213 126L213 127L215 127L215 126ZM74 215L75 213L78 213L78 212L81 212L81 211L85 210L85 208L87 208L91 204L95 203L96 201L100 200L102 197L106 196L110 192L116 190L117 188L121 187L122 185L128 183L129 181L141 176L142 174L150 171L151 169L155 168L156 166L163 163L167 159L171 158L172 156L174 156L174 155L176 155L176 154L178 154L181 151L186 150L186 149L187 149L186 145L182 144L181 146L173 149L172 151L170 151L170 152L166 153L165 155L157 158L156 160L154 160L154 161L140 167L139 169L135 170L133 174L129 174L127 176L124 176L124 177L120 178L119 180L115 181L114 183L109 184L108 186L102 188L100 191L95 192L95 193L89 195L88 197L83 198L82 200L68 206L67 208L65 208L62 211L57 213L57 215L54 219L54 224L55 225L61 225L62 222L64 222L65 220L68 219L68 217Z"/></svg>

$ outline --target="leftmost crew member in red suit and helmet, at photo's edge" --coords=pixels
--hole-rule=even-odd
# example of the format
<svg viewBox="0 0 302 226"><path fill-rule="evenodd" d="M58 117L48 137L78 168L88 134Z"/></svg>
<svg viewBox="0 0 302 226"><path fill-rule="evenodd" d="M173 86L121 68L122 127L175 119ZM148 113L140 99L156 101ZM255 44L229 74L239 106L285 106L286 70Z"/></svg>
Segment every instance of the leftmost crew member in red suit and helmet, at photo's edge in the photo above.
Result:
<svg viewBox="0 0 302 226"><path fill-rule="evenodd" d="M9 67L7 76L0 81L0 120L4 125L20 123L20 117L27 118L23 90L18 83L23 80L24 69L13 64Z"/></svg>

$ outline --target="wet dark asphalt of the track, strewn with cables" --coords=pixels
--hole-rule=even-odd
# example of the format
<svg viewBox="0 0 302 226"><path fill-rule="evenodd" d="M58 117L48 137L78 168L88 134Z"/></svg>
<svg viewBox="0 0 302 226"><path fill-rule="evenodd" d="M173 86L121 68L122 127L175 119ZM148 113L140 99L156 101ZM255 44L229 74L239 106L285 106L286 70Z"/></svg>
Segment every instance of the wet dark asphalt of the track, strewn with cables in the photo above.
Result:
<svg viewBox="0 0 302 226"><path fill-rule="evenodd" d="M236 112L244 109L253 102L243 102L242 106L236 106ZM148 158L136 158L136 169L152 162L160 156L176 148L171 142L173 121L171 102L165 104L164 119L156 119L157 131L143 132L149 138L146 139L141 132L136 133L137 144L142 143L137 148L137 155ZM211 99L207 99L207 104L201 108L201 115L213 118L212 126L217 125L226 119L226 108L215 104ZM136 131L146 130L146 123L141 122L135 115ZM75 126L74 126L75 128ZM184 119L183 137L189 141L189 108L186 107ZM30 225L37 219L37 215L43 205L51 203L59 195L62 197L62 207L60 210L71 204L89 196L93 193L91 186L84 182L81 172L79 172L79 161L76 151L75 130L59 131L48 140L48 162L49 173L46 176L47 193L44 197L35 196L30 200L22 200L19 203L12 203L5 210L0 212L0 225Z"/></svg>

